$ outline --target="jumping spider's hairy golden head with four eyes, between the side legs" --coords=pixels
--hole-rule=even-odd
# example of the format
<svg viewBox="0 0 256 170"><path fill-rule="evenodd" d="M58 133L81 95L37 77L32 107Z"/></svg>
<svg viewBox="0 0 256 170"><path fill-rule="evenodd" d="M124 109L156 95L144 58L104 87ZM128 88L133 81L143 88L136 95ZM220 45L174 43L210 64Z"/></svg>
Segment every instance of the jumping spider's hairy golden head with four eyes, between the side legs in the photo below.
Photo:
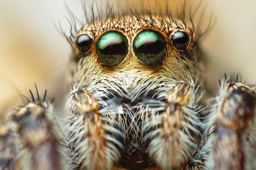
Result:
<svg viewBox="0 0 256 170"><path fill-rule="evenodd" d="M149 16L112 19L99 26L92 23L77 33L71 112L98 115L99 128L106 127L101 127L101 139L94 142L103 145L99 152L108 150L103 157L115 155L111 164L129 169L180 167L195 152L200 128L189 125L199 121L199 115L191 110L197 103L195 86L186 83L198 76L193 36L192 28L180 21ZM177 86L179 81L183 83ZM173 97L177 95L179 99ZM77 107L87 103L84 98L91 100L89 110ZM74 144L79 136L71 132L71 139L78 161L86 159L84 155L90 153ZM171 155L175 155L172 161L160 161Z"/></svg>

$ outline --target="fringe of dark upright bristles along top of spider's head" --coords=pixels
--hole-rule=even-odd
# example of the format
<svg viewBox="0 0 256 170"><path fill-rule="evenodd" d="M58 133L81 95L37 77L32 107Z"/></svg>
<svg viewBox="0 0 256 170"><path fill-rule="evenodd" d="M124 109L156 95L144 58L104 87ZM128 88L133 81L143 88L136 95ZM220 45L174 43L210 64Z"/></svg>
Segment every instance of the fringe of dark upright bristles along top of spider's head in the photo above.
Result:
<svg viewBox="0 0 256 170"><path fill-rule="evenodd" d="M194 2L193 2L194 3ZM154 6L152 5L154 4ZM156 21L162 23L162 26L172 26L175 24L180 28L188 28L190 30L190 37L202 37L208 34L209 31L215 25L215 21L212 22L212 14L207 14L206 8L200 1L198 4L192 4L190 0L184 0L179 3L170 3L169 0L164 2L157 1L140 1L140 5L137 2L127 3L101 3L99 7L98 0L94 0L91 5L83 1L84 19L80 20L79 14L73 13L73 9L70 9L67 5L71 16L67 19L70 30L69 34L61 27L59 23L60 31L67 38L71 47L75 50L74 38L76 33L81 30L90 30L95 39L97 30L107 30L111 25L120 25L125 23L125 20L129 19L135 23L142 23L145 27L154 26ZM90 8L89 8L90 6ZM178 7L177 7L178 6ZM179 7L180 6L180 7ZM208 18L205 15L209 16ZM167 25L166 25L167 24ZM96 28L99 28L96 30Z"/></svg>

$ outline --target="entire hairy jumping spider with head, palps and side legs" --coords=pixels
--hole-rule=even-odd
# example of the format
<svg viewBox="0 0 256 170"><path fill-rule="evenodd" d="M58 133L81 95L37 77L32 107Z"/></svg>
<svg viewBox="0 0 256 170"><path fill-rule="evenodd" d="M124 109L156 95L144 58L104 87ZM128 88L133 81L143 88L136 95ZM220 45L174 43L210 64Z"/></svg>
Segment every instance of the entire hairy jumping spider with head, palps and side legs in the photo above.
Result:
<svg viewBox="0 0 256 170"><path fill-rule="evenodd" d="M226 77L203 107L199 37L168 8L93 17L68 37L67 125L30 91L1 127L1 169L255 169L256 91Z"/></svg>

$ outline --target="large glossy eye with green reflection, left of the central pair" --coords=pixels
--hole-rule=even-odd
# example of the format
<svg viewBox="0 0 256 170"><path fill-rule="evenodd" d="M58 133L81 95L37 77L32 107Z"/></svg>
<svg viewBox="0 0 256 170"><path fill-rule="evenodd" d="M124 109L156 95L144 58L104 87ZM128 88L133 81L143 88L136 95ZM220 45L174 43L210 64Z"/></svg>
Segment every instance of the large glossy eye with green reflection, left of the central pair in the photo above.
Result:
<svg viewBox="0 0 256 170"><path fill-rule="evenodd" d="M119 32L108 32L99 38L97 52L103 62L108 65L117 65L128 54L127 40Z"/></svg>

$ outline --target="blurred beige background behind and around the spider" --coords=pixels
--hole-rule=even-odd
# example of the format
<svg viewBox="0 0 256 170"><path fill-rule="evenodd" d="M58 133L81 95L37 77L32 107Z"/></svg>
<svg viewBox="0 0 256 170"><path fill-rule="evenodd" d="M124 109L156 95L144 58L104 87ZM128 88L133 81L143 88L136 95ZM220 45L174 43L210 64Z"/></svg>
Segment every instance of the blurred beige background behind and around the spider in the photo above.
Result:
<svg viewBox="0 0 256 170"><path fill-rule="evenodd" d="M194 7L200 2L187 1ZM100 6L105 2L102 0ZM117 0L112 2L117 4ZM77 17L83 16L81 0L66 0L66 3ZM89 7L91 1L85 4ZM169 6L176 8L176 4L169 0ZM206 4L206 16L212 11L213 18L217 18L215 27L201 42L215 72L209 76L211 87L216 90L224 72L240 72L247 83L256 83L256 1L203 0L202 7ZM71 48L54 26L60 20L63 29L69 30L63 16L70 17L64 0L0 0L0 111L19 95L15 88L26 94L29 88L34 91L34 82L41 94L47 88L57 101L65 98L66 94L61 92Z"/></svg>

